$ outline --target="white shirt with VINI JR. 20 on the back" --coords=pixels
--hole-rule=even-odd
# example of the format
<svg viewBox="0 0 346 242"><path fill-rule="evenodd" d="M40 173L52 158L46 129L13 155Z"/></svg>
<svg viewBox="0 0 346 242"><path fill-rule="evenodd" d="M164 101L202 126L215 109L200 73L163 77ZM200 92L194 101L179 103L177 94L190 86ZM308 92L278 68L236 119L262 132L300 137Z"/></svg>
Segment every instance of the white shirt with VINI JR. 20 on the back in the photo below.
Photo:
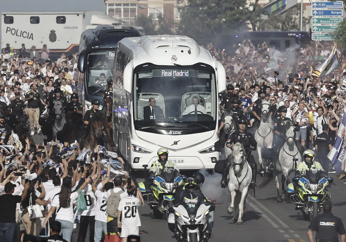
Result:
<svg viewBox="0 0 346 242"><path fill-rule="evenodd" d="M139 227L140 223L139 213L137 207L140 206L140 201L133 195L127 195L121 198L118 210L121 211L121 227L133 228Z"/></svg>

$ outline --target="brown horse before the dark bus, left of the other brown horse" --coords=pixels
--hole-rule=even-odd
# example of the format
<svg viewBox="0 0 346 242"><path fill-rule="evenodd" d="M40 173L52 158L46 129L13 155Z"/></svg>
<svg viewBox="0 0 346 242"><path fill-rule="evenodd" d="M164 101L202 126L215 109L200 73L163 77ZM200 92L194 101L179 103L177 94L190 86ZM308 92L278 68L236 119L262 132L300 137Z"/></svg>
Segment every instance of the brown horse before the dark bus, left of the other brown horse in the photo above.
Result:
<svg viewBox="0 0 346 242"><path fill-rule="evenodd" d="M98 112L88 124L87 130L89 130L89 133L81 139L80 149L82 150L85 147L93 151L97 145L103 146L102 128L102 114L101 112Z"/></svg>

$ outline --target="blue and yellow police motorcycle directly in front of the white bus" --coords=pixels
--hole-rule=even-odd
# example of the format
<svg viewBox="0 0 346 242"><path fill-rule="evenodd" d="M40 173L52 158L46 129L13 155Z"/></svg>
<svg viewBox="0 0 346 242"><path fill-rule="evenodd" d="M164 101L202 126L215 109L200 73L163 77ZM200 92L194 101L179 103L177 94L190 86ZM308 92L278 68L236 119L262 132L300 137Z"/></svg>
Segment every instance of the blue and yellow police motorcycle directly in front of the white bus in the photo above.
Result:
<svg viewBox="0 0 346 242"><path fill-rule="evenodd" d="M146 174L148 165L143 167ZM186 178L174 167L167 167L160 174L149 176L148 179L145 175L145 182L138 184L143 199L153 210L155 218L161 219L164 214L168 216L169 208L174 205L174 195L178 188L184 185Z"/></svg>

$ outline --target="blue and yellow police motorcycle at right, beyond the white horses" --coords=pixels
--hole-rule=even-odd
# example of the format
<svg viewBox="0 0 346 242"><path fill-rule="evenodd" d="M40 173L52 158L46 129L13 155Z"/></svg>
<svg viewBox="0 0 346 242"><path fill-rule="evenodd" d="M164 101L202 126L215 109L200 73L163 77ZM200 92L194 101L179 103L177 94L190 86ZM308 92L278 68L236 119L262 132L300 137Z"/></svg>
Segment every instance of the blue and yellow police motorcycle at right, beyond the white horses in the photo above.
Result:
<svg viewBox="0 0 346 242"><path fill-rule="evenodd" d="M287 188L287 195L295 204L295 210L300 210L304 220L311 221L321 211L322 204L330 200L330 193L327 186L333 183L332 177L321 176L321 171L309 170L304 176L295 176L292 182L297 184L297 192L294 192L294 185L290 183Z"/></svg>

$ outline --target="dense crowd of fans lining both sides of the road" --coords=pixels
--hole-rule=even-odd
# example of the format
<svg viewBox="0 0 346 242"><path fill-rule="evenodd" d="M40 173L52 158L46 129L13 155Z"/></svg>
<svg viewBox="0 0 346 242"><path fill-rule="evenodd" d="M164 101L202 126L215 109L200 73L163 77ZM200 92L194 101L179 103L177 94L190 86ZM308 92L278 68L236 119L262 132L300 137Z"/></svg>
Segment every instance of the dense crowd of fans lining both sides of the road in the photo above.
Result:
<svg viewBox="0 0 346 242"><path fill-rule="evenodd" d="M227 111L232 105L240 104L249 125L253 125L256 117L251 112L251 104L260 98L258 92L264 90L265 99L270 99L274 120L277 108L285 106L286 117L300 126L296 139L302 146L316 148L316 137L325 130L324 124L328 125L329 137L334 143L345 107L344 70L340 65L328 76L311 76L311 69L329 56L332 42L316 41L305 48L279 51L265 42L255 46L251 40L245 39L243 43L234 44L228 52L217 51L213 43L206 48L226 69L227 90L220 93L220 110ZM118 191L126 187L130 167L124 164L119 169L120 175L116 176L120 178L109 180L109 174L106 178L101 176L100 160L108 158L106 153L97 152L97 156L89 157L90 162L85 163L76 160L82 152L76 148L77 142L56 144L52 140L46 145L35 144L28 138L20 141L20 127L25 127L27 115L31 135L41 134L39 114L44 112L54 89L60 88L62 95L67 97L76 92L78 54L62 54L55 62L49 59L49 53L46 45L41 50L36 50L35 46L26 49L24 44L19 50L9 44L2 49L0 206L7 209L0 210L0 241L8 242L13 238L14 241L26 241L30 235L47 233L54 236L53 239L62 234L64 239L61 241L71 241L74 223L80 223L78 241L85 240L89 225L90 241L101 241L102 232L106 231L107 215L106 212L96 212L103 205L97 200L108 197L110 189ZM337 53L343 57L339 50ZM305 122L310 110L313 111L313 125ZM303 129L306 129L306 136ZM70 155L64 153L68 148L73 148ZM103 168L110 171L109 167ZM340 174L340 178L343 177L345 175ZM133 185L138 188L136 182ZM90 206L79 214L73 209L73 203L80 192ZM57 194L60 195L56 197ZM143 203L140 192L137 195ZM61 204L64 204L63 208L55 211ZM39 208L33 212L35 205ZM52 217L58 223L53 222Z"/></svg>

